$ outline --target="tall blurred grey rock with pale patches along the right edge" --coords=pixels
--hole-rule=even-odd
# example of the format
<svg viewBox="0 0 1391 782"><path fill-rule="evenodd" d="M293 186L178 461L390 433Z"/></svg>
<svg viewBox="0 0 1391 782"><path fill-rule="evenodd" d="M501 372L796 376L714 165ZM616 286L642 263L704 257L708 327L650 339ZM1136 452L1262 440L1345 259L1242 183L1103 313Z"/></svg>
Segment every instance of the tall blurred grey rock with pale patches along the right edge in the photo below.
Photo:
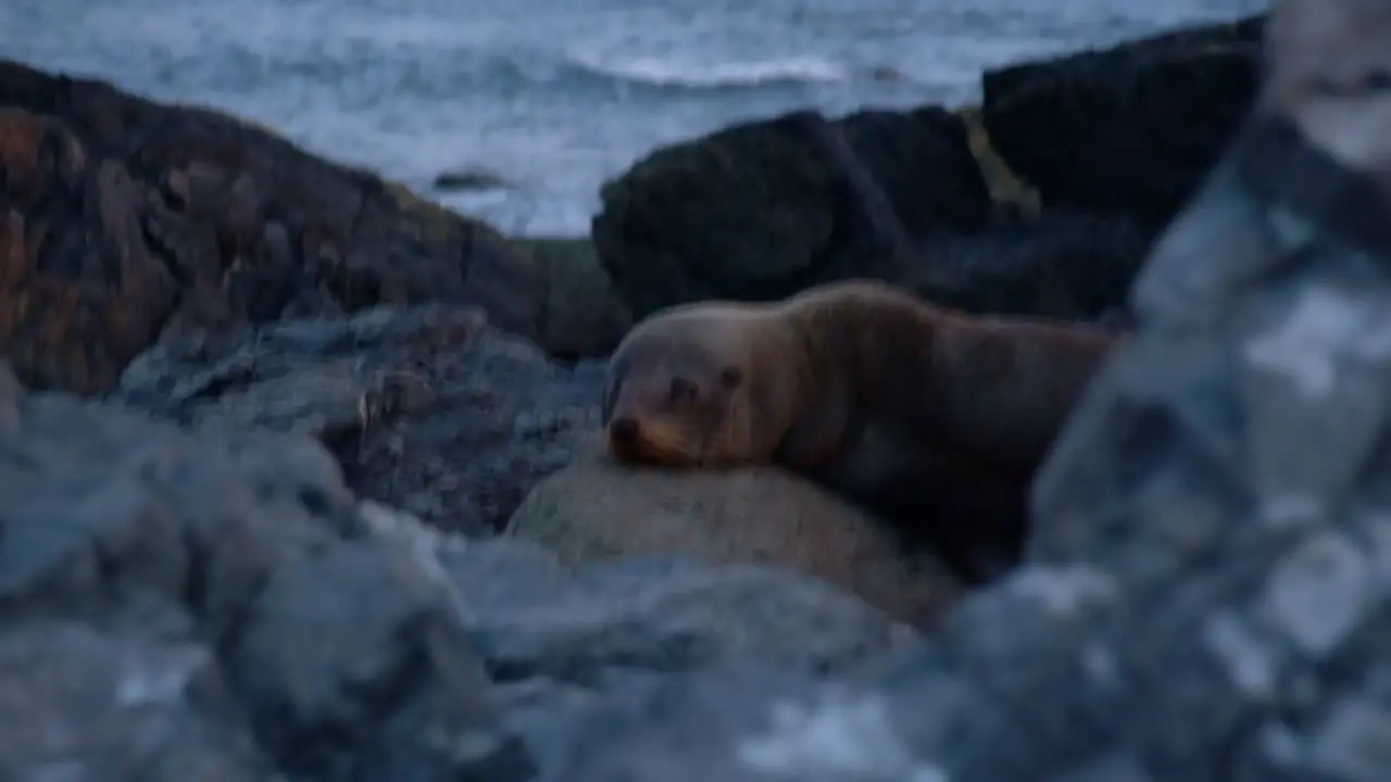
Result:
<svg viewBox="0 0 1391 782"><path fill-rule="evenodd" d="M1289 64L1267 89L1380 68L1369 60L1385 50L1367 57L1356 45L1391 45L1391 15L1360 11L1352 29L1340 29L1309 18L1324 11L1306 1L1288 0L1288 18L1327 28L1327 38L1306 40L1285 22L1287 49L1270 49ZM1372 8L1340 0L1326 13L1362 6ZM1134 294L1145 327L1099 376L1038 476L1045 523L1035 558L1104 551L1114 561L1124 541L1143 557L1131 565L1148 572L1157 551L1255 554L1267 538L1285 541L1281 548L1337 538L1335 523L1366 526L1366 545L1391 534L1362 518L1384 505L1363 487L1387 469L1391 406L1381 384L1391 378L1391 320L1381 313L1391 302L1391 238L1381 225L1391 218L1391 178L1381 150L1345 141L1391 128L1380 106L1346 103L1340 124L1313 109L1305 115L1301 103L1289 117L1257 111L1164 234ZM1136 473L1134 463L1150 468ZM1237 518L1239 526L1227 523Z"/></svg>

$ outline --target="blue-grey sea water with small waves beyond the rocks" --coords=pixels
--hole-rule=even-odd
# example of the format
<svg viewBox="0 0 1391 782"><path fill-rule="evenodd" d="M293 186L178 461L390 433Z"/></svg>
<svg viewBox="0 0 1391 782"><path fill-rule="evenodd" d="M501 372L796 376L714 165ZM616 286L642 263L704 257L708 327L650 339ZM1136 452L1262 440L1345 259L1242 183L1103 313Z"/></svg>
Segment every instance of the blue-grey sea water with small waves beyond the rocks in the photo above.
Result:
<svg viewBox="0 0 1391 782"><path fill-rule="evenodd" d="M960 103L982 68L1266 0L0 0L0 56L218 106L526 234L654 146L819 106ZM901 75L876 79L876 70Z"/></svg>

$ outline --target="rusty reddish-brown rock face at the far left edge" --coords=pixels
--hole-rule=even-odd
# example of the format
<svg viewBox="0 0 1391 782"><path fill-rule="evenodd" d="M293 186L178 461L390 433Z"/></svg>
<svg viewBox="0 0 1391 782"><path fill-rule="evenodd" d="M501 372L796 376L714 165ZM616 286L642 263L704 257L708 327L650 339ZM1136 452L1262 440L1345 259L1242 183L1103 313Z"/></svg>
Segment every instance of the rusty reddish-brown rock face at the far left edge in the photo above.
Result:
<svg viewBox="0 0 1391 782"><path fill-rule="evenodd" d="M0 109L0 352L31 385L103 391L178 295L142 235L138 185L60 120L19 109Z"/></svg>

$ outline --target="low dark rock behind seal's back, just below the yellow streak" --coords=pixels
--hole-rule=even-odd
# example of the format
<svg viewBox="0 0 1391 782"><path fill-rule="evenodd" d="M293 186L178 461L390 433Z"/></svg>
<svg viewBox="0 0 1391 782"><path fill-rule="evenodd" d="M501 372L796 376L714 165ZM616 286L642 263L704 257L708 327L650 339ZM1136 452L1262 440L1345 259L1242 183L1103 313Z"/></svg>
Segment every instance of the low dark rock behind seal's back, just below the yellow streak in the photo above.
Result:
<svg viewBox="0 0 1391 782"><path fill-rule="evenodd" d="M1123 316L1149 253L1129 220L1045 213L975 235L931 239L901 282L981 314L1106 321Z"/></svg>

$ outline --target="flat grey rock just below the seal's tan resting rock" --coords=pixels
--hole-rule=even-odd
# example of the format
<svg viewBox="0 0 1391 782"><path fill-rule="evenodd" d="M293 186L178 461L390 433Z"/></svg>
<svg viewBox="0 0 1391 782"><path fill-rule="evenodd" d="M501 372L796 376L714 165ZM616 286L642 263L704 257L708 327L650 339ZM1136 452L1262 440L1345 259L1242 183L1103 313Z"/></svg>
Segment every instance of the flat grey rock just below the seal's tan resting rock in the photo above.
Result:
<svg viewBox="0 0 1391 782"><path fill-rule="evenodd" d="M604 668L676 672L739 661L822 675L918 640L869 605L772 566L616 559L551 582L554 591L541 596L512 587L530 570L502 575L488 565L499 554L515 559L505 552L512 545L522 544L487 541L445 559L498 680L586 683Z"/></svg>

